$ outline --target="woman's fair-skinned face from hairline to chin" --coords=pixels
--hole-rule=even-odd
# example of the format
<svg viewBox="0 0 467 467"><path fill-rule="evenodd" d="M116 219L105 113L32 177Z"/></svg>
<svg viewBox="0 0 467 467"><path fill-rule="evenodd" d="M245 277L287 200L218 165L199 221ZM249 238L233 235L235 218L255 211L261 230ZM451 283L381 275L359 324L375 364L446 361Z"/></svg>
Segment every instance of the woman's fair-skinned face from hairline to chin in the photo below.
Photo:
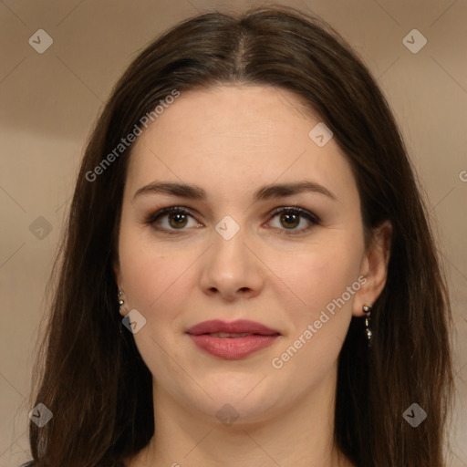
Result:
<svg viewBox="0 0 467 467"><path fill-rule="evenodd" d="M284 89L222 86L182 93L136 140L116 274L156 404L259 421L333 397L350 319L378 291L355 179L319 121ZM156 219L169 207L183 213ZM187 333L209 320L276 334Z"/></svg>

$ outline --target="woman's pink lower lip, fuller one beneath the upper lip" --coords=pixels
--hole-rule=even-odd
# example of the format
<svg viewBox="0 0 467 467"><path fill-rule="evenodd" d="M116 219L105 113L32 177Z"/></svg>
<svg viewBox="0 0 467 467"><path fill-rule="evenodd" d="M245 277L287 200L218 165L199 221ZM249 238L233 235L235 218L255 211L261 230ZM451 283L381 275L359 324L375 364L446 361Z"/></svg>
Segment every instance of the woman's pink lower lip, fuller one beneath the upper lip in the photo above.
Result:
<svg viewBox="0 0 467 467"><path fill-rule="evenodd" d="M279 335L259 336L251 334L245 337L213 337L209 334L192 336L193 342L214 357L230 360L247 357L254 352L267 348L275 343Z"/></svg>

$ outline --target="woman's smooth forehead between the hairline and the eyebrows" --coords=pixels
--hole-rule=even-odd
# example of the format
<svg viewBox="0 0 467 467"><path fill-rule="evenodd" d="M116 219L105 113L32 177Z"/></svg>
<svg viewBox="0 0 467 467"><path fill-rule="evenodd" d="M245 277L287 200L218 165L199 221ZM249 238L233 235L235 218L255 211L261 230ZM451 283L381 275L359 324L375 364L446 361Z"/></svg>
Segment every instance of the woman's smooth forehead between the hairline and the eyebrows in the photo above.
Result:
<svg viewBox="0 0 467 467"><path fill-rule="evenodd" d="M319 147L309 136L319 123L303 99L283 88L182 92L135 141L127 181L132 189L154 178L194 182L208 192L222 182L223 192L235 195L278 178L351 188L337 142Z"/></svg>

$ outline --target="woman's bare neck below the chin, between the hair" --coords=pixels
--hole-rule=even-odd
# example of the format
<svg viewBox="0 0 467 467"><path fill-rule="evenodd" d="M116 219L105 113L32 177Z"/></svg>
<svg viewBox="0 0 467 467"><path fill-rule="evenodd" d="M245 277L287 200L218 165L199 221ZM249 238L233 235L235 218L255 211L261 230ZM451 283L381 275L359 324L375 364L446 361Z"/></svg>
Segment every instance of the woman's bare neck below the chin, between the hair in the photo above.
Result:
<svg viewBox="0 0 467 467"><path fill-rule="evenodd" d="M182 407L154 383L154 437L131 467L352 467L334 445L337 369L312 394L262 420L232 424ZM215 414L214 414L215 415Z"/></svg>

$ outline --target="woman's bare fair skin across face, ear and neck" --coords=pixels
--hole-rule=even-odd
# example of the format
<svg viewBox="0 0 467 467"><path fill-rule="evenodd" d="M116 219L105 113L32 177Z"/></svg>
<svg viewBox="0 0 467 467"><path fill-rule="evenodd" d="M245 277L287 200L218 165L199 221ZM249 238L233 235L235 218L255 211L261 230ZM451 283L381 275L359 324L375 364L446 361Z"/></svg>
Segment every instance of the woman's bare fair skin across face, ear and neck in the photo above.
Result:
<svg viewBox="0 0 467 467"><path fill-rule="evenodd" d="M348 161L336 140L320 148L308 137L319 121L284 89L225 85L182 93L136 141L115 274L124 291L121 315L137 309L146 319L133 337L153 375L156 427L130 467L353 465L332 443L337 358L351 317L362 317L385 284L390 225L366 249ZM196 184L207 197L133 198L156 180ZM336 199L319 192L252 199L264 185L305 180ZM191 215L145 223L169 206ZM321 222L271 214L291 206ZM228 241L215 230L225 215L240 227ZM326 324L274 368L272 359L348 286L360 285L358 276L365 284L345 306L327 313ZM281 337L246 358L216 358L185 334L216 318L258 321ZM238 414L229 426L216 417L226 403Z"/></svg>

